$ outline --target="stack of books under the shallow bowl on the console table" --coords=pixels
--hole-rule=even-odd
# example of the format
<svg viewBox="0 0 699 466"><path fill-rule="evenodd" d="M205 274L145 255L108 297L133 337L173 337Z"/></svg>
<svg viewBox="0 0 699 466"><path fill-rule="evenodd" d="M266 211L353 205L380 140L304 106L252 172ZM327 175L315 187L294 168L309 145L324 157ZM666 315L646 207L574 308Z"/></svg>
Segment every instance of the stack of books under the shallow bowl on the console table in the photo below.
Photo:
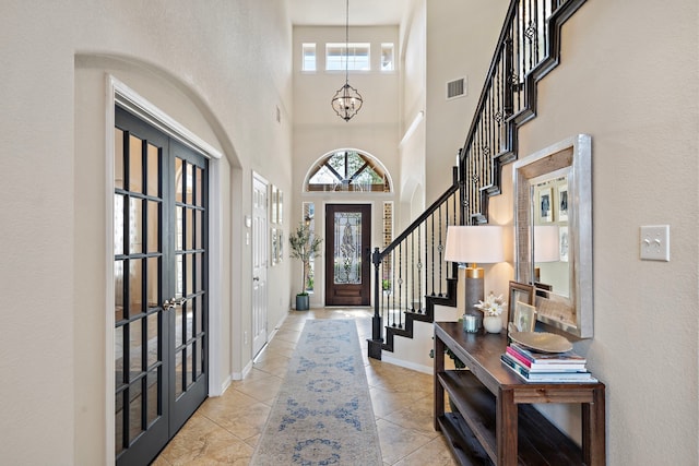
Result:
<svg viewBox="0 0 699 466"><path fill-rule="evenodd" d="M500 360L528 382L597 382L585 368L585 358L572 351L538 353L511 343Z"/></svg>

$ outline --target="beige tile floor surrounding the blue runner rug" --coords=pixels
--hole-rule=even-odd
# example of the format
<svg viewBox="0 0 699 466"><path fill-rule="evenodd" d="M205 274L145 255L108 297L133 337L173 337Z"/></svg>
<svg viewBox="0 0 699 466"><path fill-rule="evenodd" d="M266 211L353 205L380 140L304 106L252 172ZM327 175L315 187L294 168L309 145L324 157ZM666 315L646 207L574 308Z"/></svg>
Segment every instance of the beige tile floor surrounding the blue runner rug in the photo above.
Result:
<svg viewBox="0 0 699 466"><path fill-rule="evenodd" d="M366 309L291 311L248 377L234 381L223 396L208 398L153 465L248 465L307 319L357 322L383 465L455 465L442 435L433 429L431 375L366 356L371 335Z"/></svg>

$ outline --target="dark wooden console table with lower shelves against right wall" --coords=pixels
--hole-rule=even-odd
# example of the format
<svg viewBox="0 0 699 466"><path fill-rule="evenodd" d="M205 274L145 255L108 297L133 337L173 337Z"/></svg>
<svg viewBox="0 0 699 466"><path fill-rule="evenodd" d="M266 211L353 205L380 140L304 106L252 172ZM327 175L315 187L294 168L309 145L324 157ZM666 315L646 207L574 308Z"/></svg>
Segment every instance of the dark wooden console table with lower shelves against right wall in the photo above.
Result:
<svg viewBox="0 0 699 466"><path fill-rule="evenodd" d="M500 361L505 334L435 322L435 429L462 465L604 465L603 383L524 382ZM449 348L470 370L445 370ZM445 392L458 413L445 413ZM531 404L577 403L582 449Z"/></svg>

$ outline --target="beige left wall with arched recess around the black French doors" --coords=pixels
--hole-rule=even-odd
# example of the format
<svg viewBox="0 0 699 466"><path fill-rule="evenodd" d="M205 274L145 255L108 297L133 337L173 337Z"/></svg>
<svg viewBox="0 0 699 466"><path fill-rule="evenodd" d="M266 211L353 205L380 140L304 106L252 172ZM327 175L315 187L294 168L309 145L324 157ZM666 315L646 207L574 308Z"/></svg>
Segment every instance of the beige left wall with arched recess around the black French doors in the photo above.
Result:
<svg viewBox="0 0 699 466"><path fill-rule="evenodd" d="M283 0L3 2L0 223L3 308L0 457L109 463L106 74L224 154L213 392L249 363L251 172L291 179L291 25ZM264 35L259 34L265 31ZM276 108L282 115L276 122ZM270 287L270 327L288 267ZM279 296L277 296L279 295ZM283 299L282 299L283 298ZM114 410L111 410L114 413ZM111 428L112 429L112 428ZM111 435L114 439L114 435Z"/></svg>

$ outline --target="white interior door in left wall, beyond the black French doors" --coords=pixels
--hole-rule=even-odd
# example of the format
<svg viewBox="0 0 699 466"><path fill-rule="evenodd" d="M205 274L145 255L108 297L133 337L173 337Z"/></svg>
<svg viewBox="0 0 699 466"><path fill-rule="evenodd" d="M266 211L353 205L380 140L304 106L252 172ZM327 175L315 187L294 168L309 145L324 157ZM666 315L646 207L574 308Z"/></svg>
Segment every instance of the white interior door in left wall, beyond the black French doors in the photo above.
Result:
<svg viewBox="0 0 699 466"><path fill-rule="evenodd" d="M252 355L266 343L268 183L252 180Z"/></svg>

